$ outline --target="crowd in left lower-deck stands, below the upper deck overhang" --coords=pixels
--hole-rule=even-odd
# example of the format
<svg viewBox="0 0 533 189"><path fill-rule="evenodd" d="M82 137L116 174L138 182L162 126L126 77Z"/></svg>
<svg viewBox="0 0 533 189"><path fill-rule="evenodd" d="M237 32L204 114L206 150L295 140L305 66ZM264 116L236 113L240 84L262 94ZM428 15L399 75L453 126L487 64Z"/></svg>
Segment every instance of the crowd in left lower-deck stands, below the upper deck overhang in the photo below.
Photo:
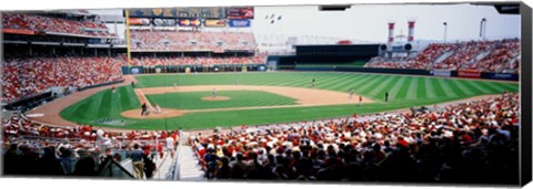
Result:
<svg viewBox="0 0 533 189"><path fill-rule="evenodd" d="M114 57L10 57L2 62L2 101L42 93L51 87L86 87L122 80Z"/></svg>

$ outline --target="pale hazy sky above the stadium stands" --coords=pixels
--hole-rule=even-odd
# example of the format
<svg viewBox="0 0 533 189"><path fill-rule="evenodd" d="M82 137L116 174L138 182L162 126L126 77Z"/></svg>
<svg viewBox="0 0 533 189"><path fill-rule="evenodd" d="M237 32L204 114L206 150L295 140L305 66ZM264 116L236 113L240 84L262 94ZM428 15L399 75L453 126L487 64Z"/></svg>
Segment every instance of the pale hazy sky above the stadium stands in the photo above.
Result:
<svg viewBox="0 0 533 189"><path fill-rule="evenodd" d="M91 11L122 14L121 10ZM265 15L281 15L271 23ZM269 17L270 18L270 17ZM408 20L415 20L415 40L480 39L480 22L485 18L486 38L520 38L520 15L499 14L491 6L471 4L358 4L346 11L319 11L316 6L255 7L252 31L257 35L313 35L371 42L386 41L388 22L395 22L394 35L408 34ZM110 27L113 30L113 27ZM119 31L123 27L119 27ZM122 32L119 32L122 35Z"/></svg>

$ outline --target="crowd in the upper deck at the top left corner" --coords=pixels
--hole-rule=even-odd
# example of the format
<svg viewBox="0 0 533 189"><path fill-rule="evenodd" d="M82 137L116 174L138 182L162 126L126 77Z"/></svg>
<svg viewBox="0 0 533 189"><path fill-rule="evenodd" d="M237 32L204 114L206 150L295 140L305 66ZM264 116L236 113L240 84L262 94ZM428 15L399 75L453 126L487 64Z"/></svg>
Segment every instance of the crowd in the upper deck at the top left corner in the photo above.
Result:
<svg viewBox="0 0 533 189"><path fill-rule="evenodd" d="M6 12L2 14L2 27L4 29L18 29L34 32L56 32L88 36L117 36L115 33L110 33L109 29L102 22L95 22L90 19L79 21L74 19L48 17L44 14Z"/></svg>

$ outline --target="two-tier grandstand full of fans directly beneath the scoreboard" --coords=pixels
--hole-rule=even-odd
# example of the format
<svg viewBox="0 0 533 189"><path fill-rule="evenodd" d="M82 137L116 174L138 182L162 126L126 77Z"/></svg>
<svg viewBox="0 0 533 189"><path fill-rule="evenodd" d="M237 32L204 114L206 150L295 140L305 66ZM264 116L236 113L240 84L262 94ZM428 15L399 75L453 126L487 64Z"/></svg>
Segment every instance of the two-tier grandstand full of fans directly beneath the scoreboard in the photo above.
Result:
<svg viewBox="0 0 533 189"><path fill-rule="evenodd" d="M264 64L249 32L131 31L132 65ZM153 56L152 53L157 55ZM149 54L149 55L147 55Z"/></svg>

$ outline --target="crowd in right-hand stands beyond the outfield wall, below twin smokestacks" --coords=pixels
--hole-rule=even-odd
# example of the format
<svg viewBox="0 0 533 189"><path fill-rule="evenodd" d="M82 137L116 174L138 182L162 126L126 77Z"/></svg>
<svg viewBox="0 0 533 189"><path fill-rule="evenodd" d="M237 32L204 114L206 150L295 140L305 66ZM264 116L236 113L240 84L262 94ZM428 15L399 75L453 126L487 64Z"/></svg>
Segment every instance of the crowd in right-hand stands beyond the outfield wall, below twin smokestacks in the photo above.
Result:
<svg viewBox="0 0 533 189"><path fill-rule="evenodd" d="M446 54L449 53L449 54ZM479 55L485 56L479 59ZM443 55L443 60L439 60ZM373 57L365 67L413 70L471 70L480 72L517 71L519 39L496 41L467 41L459 43L432 43L414 57Z"/></svg>

